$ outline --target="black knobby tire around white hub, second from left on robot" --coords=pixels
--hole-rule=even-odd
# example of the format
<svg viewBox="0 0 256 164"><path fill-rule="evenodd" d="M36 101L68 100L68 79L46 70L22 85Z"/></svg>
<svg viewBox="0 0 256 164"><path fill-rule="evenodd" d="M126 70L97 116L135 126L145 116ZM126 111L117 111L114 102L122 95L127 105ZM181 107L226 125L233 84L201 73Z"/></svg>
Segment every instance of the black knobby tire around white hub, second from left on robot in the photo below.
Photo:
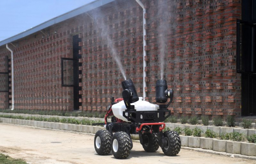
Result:
<svg viewBox="0 0 256 164"><path fill-rule="evenodd" d="M118 141L118 150L114 152L113 150L113 141L117 139ZM111 150L115 158L125 159L130 155L132 149L132 140L126 132L116 132L111 140Z"/></svg>

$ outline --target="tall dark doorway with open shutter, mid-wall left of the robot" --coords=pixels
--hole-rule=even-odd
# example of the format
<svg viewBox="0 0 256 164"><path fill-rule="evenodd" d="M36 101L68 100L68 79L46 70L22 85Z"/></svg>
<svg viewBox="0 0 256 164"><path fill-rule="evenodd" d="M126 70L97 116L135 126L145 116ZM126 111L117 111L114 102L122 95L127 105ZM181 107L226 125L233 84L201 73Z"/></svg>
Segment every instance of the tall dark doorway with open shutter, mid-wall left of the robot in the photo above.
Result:
<svg viewBox="0 0 256 164"><path fill-rule="evenodd" d="M73 36L73 58L61 58L61 85L73 87L74 110L79 110L79 46L81 39L78 35Z"/></svg>

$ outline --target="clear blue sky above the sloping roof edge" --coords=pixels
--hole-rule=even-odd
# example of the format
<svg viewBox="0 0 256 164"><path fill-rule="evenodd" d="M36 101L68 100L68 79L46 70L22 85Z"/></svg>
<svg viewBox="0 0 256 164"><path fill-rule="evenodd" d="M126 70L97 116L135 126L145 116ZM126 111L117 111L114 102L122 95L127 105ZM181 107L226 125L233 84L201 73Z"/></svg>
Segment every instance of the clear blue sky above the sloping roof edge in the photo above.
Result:
<svg viewBox="0 0 256 164"><path fill-rule="evenodd" d="M0 0L0 41L94 0Z"/></svg>

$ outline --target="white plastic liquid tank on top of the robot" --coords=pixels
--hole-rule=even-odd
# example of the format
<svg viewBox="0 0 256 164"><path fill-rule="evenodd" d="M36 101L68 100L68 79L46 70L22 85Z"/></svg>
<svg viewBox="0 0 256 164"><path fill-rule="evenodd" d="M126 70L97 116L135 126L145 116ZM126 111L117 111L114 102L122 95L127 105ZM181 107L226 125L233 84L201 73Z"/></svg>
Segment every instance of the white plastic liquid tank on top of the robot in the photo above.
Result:
<svg viewBox="0 0 256 164"><path fill-rule="evenodd" d="M142 97L139 97L139 101L131 103L131 105L134 105L136 111L152 111L157 110L159 108L158 105L151 104L148 101L143 101L142 99ZM118 119L128 122L128 120L125 117L123 117L123 111L125 110L126 107L124 101L120 101L117 104L112 105L112 111L114 116L116 116Z"/></svg>

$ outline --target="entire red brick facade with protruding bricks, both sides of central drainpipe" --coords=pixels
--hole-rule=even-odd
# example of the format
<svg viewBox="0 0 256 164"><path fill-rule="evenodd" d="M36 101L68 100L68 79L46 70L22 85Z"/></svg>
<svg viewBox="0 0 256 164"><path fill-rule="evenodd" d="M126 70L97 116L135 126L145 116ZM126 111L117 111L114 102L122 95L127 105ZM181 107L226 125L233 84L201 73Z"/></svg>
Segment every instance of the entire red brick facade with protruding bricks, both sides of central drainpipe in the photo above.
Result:
<svg viewBox="0 0 256 164"><path fill-rule="evenodd" d="M175 115L241 115L241 76L236 73L236 19L239 0L143 0L147 8L146 100L155 102L161 48L165 72L174 92ZM101 12L102 15L96 15ZM72 35L82 42L79 86L81 110L105 110L112 96L121 97L121 81L101 30L108 30L139 96L143 95L143 12L136 1L116 0L18 41L14 50L16 109L72 110L72 87L61 86L61 57L72 58ZM107 29L99 26L106 22ZM163 28L164 27L164 28ZM46 29L48 30L48 29ZM56 32L56 33L55 33ZM44 38L42 38L44 36ZM165 44L160 44L160 38ZM9 52L0 47L0 66ZM6 93L0 93L3 107Z"/></svg>

